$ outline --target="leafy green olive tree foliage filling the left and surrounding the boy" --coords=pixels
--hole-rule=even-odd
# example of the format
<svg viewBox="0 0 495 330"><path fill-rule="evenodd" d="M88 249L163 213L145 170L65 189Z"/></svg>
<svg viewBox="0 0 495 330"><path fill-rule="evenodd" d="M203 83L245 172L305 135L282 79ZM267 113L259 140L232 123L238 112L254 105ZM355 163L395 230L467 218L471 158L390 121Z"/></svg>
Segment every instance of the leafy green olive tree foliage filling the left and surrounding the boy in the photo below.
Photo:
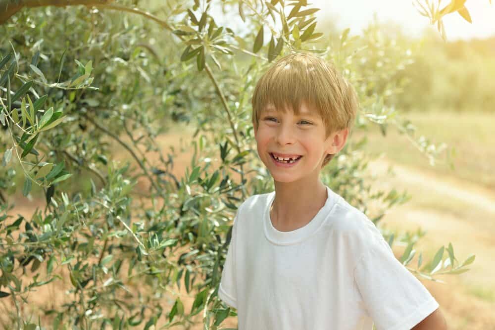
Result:
<svg viewBox="0 0 495 330"><path fill-rule="evenodd" d="M212 3L240 15L247 32L218 26ZM413 131L394 107L397 72L410 59L379 26L324 40L317 9L305 1L131 10L146 6L37 8L12 16L14 28L0 26L0 299L16 307L6 314L12 325L32 328L21 305L36 287L62 278L72 285L68 301L36 311L50 319L45 327L166 329L199 317L204 329L218 329L237 315L217 290L238 206L273 189L256 157L249 99L278 56L305 49L334 61L359 93L356 130L376 125L385 134L392 123ZM196 132L190 165L176 177L177 152L163 155L158 139L182 123ZM421 142L432 159L439 156ZM386 210L408 196L371 192L365 144L351 137L322 179L380 228ZM115 145L135 168L114 161ZM46 200L31 219L9 213L17 171L22 193L32 197L38 187ZM383 233L391 245L408 244L400 258L408 265L419 235ZM450 244L445 260L443 252L411 271L435 280L474 261L459 265ZM190 311L181 287L194 296Z"/></svg>

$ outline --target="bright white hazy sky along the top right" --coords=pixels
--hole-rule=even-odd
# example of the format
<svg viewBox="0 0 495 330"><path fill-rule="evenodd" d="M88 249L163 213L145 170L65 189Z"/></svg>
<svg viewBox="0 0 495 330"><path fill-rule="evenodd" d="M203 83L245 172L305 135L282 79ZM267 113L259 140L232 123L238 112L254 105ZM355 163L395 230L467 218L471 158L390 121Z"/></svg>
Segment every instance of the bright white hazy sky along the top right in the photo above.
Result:
<svg viewBox="0 0 495 330"><path fill-rule="evenodd" d="M419 0L424 4L425 0ZM437 4L437 0L433 0ZM441 8L450 1L442 0ZM335 19L338 28L350 28L350 34L360 34L362 28L373 19L376 12L381 22L394 21L403 27L404 33L419 37L426 27L431 26L427 17L422 16L411 0L308 0L310 8L320 8L317 20ZM473 23L464 20L458 13L444 17L447 40L468 40L495 36L495 0L467 0L466 8Z"/></svg>

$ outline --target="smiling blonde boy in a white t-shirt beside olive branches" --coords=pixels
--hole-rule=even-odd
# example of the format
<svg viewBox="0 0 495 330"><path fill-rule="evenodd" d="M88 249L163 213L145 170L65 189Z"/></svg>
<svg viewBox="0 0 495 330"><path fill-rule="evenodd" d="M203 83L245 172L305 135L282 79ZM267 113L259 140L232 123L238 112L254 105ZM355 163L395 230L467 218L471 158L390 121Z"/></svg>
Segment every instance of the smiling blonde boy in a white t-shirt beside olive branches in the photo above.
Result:
<svg viewBox="0 0 495 330"><path fill-rule="evenodd" d="M239 330L445 330L439 304L374 224L319 173L347 141L353 88L309 53L281 58L252 96L275 191L238 209L218 296Z"/></svg>

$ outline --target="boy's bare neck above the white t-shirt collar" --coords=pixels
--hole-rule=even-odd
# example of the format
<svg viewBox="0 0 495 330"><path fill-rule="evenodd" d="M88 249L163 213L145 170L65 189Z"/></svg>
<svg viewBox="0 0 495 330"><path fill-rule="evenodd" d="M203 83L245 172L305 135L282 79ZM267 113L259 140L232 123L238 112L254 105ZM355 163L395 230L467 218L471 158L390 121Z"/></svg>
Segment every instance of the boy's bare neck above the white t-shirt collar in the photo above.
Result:
<svg viewBox="0 0 495 330"><path fill-rule="evenodd" d="M314 183L275 182L275 199L270 209L272 225L289 232L308 224L325 205L327 189L320 180Z"/></svg>

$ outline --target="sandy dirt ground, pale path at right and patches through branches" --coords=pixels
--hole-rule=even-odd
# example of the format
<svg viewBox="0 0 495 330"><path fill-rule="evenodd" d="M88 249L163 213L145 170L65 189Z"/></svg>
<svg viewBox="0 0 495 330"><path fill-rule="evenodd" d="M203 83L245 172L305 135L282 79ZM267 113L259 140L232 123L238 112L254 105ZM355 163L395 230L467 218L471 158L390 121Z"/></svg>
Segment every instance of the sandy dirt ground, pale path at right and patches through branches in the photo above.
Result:
<svg viewBox="0 0 495 330"><path fill-rule="evenodd" d="M171 136L160 141L163 147L170 144L178 146L177 137ZM126 156L119 154L118 157L124 159ZM148 160L151 161L152 158ZM181 174L189 163L188 155L180 155L175 162L176 173ZM381 176L389 165L390 161L387 159L377 160L370 163L370 171ZM407 189L412 199L390 210L382 220L383 225L401 231L416 230L418 227L426 230L427 235L418 242L417 248L430 255L449 242L452 242L459 261L465 260L472 253L476 254L476 261L469 272L442 277L446 284L427 280L422 280L422 283L439 302L449 329L495 330L495 193L481 186L453 177L439 177L424 170L397 164L394 164L394 170L396 176L385 177L377 184L377 188L394 187L399 191ZM30 217L34 205L35 201L19 198L12 214ZM32 303L46 303L46 298L50 301L63 292L64 285L58 283L57 286L40 289ZM181 294L185 310L190 310L194 298L187 297L183 286ZM237 322L235 318L229 318L223 326L236 327ZM189 329L202 327L198 325Z"/></svg>

